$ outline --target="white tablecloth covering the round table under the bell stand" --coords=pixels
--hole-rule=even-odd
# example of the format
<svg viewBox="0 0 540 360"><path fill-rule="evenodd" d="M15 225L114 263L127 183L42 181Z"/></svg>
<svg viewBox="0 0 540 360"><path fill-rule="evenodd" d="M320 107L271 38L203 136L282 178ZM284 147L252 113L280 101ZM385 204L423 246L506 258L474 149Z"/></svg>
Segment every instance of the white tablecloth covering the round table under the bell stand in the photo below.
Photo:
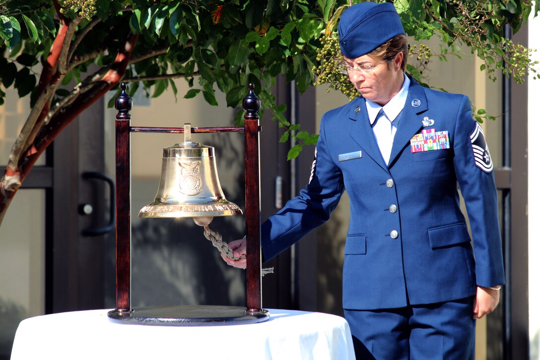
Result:
<svg viewBox="0 0 540 360"><path fill-rule="evenodd" d="M320 312L268 309L263 323L183 327L117 324L107 311L23 320L11 360L354 359L348 323Z"/></svg>

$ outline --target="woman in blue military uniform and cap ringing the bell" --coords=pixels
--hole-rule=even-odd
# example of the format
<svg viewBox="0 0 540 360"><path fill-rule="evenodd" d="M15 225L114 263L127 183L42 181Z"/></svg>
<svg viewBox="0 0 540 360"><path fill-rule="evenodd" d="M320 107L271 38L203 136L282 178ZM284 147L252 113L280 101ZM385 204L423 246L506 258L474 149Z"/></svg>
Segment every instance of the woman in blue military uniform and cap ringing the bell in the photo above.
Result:
<svg viewBox="0 0 540 360"><path fill-rule="evenodd" d="M323 116L309 183L262 225L262 255L324 223L346 189L343 309L357 358L473 358L475 319L504 284L493 165L469 99L404 74L404 34L390 3L343 13L343 70L361 96ZM230 246L245 254L244 240Z"/></svg>

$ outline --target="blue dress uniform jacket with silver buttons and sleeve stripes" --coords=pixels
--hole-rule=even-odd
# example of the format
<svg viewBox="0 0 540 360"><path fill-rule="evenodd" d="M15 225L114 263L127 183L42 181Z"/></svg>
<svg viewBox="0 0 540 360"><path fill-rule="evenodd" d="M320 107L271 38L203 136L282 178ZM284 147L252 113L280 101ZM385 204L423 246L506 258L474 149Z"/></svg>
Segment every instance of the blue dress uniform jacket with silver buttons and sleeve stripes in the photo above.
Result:
<svg viewBox="0 0 540 360"><path fill-rule="evenodd" d="M347 190L343 308L445 302L475 295L477 285L504 284L491 159L487 146L473 150L483 142L478 127L466 96L411 79L387 166L365 99L327 112L309 184L262 225L265 261L327 221ZM448 131L449 148L413 153L411 138L429 129Z"/></svg>

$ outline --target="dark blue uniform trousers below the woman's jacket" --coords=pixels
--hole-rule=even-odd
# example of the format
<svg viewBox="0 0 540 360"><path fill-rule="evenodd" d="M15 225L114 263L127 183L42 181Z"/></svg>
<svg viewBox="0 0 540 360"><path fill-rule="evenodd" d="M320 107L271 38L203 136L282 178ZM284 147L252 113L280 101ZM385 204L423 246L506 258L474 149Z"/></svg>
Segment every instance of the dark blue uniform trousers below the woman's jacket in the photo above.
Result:
<svg viewBox="0 0 540 360"><path fill-rule="evenodd" d="M358 360L474 359L473 297L382 310L345 310Z"/></svg>

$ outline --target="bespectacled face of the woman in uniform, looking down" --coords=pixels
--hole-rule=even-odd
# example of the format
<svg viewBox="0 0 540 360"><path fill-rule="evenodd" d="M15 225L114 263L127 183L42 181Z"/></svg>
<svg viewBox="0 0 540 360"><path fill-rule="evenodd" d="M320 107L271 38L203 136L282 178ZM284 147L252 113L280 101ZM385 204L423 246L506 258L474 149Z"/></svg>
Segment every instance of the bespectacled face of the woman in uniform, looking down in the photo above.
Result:
<svg viewBox="0 0 540 360"><path fill-rule="evenodd" d="M364 98L384 106L401 90L403 85L403 71L400 69L403 61L401 52L389 62L369 55L355 59L343 58L343 61L354 69L348 71L349 81ZM366 70L369 66L373 66L370 71Z"/></svg>

